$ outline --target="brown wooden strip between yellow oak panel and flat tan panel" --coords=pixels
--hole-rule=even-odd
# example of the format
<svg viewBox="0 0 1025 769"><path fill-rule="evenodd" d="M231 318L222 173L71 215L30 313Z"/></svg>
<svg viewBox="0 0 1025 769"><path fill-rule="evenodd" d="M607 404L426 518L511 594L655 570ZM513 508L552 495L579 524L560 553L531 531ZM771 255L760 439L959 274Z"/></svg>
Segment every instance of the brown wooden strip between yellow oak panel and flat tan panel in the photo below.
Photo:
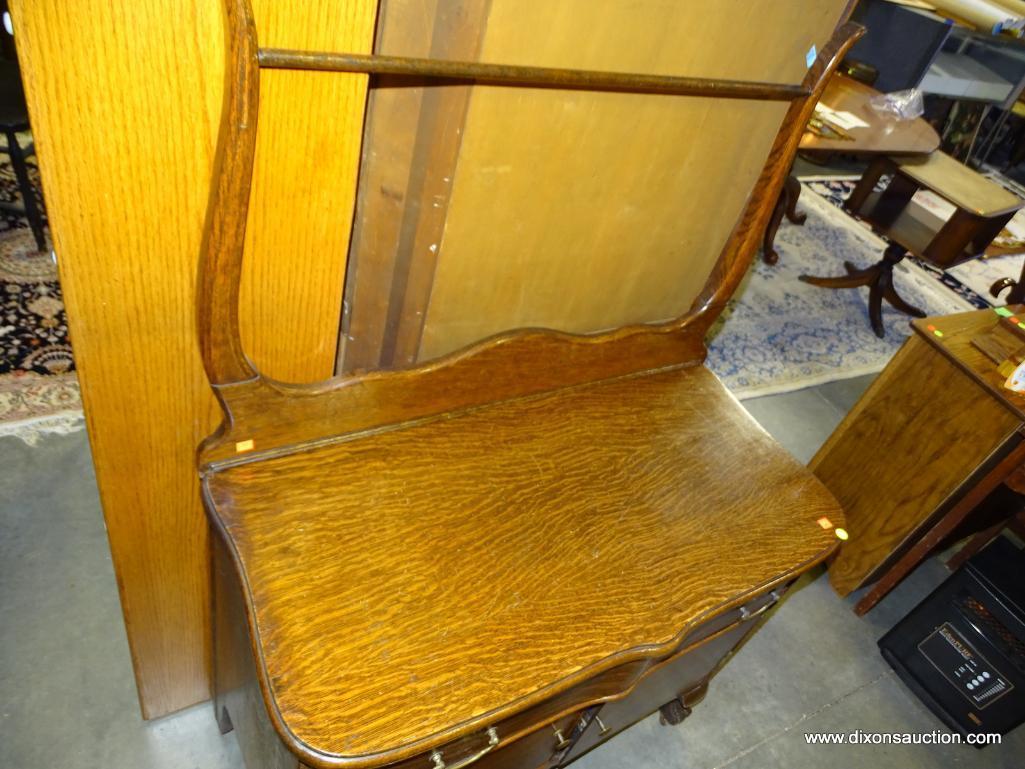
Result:
<svg viewBox="0 0 1025 769"><path fill-rule="evenodd" d="M378 53L476 59L490 0L381 0ZM339 371L416 361L468 85L376 78L367 105Z"/></svg>

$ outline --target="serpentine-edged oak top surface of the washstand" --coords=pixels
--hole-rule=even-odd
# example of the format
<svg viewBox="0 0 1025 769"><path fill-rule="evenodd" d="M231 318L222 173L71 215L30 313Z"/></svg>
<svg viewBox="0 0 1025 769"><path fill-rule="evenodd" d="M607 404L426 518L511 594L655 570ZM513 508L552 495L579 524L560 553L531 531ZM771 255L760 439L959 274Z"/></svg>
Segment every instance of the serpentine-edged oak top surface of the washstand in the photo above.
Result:
<svg viewBox="0 0 1025 769"><path fill-rule="evenodd" d="M204 487L273 712L323 766L400 758L664 656L825 558L820 516L843 523L703 367L352 436Z"/></svg>

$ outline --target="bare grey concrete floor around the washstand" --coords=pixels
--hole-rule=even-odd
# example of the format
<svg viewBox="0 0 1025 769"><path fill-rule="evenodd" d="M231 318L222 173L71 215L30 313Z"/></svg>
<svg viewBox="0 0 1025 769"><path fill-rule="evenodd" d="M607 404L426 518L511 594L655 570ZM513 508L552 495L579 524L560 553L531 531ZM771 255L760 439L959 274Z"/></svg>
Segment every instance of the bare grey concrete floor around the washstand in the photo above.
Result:
<svg viewBox="0 0 1025 769"><path fill-rule="evenodd" d="M870 378L870 377L869 377ZM867 386L833 382L744 405L807 461ZM197 705L138 715L117 586L84 433L29 447L0 439L0 767L229 769L238 745ZM811 575L714 679L679 727L649 718L579 769L1025 767L1025 729L1002 745L809 745L812 731L941 728L875 641L945 575L922 565L867 617Z"/></svg>

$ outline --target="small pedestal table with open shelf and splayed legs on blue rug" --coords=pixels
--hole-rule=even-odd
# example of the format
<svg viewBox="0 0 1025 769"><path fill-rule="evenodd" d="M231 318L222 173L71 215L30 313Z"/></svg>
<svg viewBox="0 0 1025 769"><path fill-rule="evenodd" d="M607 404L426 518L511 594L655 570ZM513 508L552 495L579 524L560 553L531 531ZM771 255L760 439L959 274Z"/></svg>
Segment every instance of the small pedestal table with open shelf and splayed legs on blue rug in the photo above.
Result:
<svg viewBox="0 0 1025 769"><path fill-rule="evenodd" d="M885 174L892 174L889 185L875 192ZM930 190L951 203L956 209L953 215L944 221L912 201L919 190ZM936 152L925 158L876 158L846 205L891 245L883 258L867 269L845 261L845 276L802 275L801 280L823 288L868 286L868 317L875 335L881 338L883 299L908 315L925 315L897 293L893 284L896 264L908 253L942 269L968 261L986 250L1025 201L949 155Z"/></svg>

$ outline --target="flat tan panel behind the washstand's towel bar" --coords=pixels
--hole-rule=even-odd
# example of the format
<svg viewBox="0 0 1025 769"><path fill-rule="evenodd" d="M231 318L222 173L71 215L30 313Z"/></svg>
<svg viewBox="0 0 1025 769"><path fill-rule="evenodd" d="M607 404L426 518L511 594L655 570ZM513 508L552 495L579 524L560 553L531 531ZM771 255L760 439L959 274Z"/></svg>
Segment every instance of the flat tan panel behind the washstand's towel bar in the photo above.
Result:
<svg viewBox="0 0 1025 769"><path fill-rule="evenodd" d="M483 60L797 83L845 0L492 0ZM785 106L478 87L419 359L520 326L684 313ZM427 253L414 258L429 258Z"/></svg>

